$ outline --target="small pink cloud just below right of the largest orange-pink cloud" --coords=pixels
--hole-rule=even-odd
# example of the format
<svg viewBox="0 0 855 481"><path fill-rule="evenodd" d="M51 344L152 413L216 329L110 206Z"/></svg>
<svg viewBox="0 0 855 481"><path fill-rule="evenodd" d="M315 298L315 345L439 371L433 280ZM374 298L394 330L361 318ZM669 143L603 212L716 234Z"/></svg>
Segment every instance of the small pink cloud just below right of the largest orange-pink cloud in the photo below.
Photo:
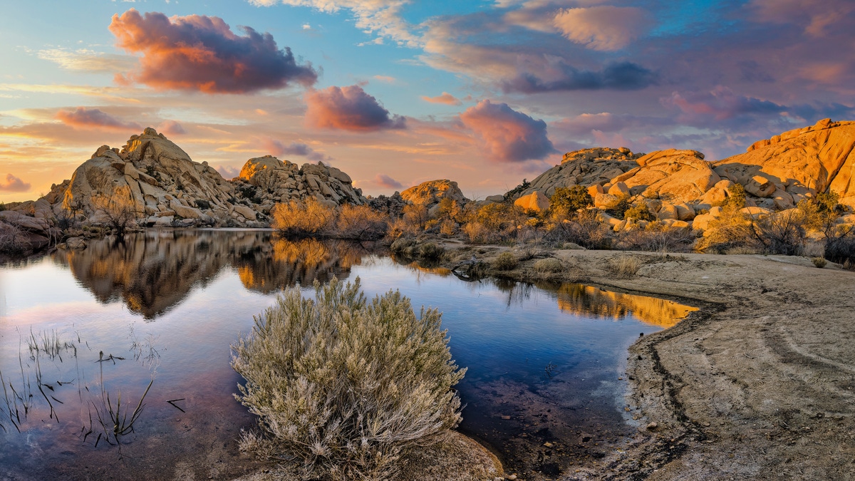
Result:
<svg viewBox="0 0 855 481"><path fill-rule="evenodd" d="M331 86L306 92L306 121L318 128L371 132L406 128L404 117L389 113L362 86Z"/></svg>

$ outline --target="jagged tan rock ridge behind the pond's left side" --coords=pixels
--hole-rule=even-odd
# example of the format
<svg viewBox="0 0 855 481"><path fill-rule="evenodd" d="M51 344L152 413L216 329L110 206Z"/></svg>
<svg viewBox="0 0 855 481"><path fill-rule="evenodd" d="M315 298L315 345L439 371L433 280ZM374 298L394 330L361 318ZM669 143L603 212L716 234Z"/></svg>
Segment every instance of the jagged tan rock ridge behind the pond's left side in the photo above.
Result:
<svg viewBox="0 0 855 481"><path fill-rule="evenodd" d="M145 128L121 150L98 147L70 180L15 210L37 218L74 215L103 223L97 199L116 192L129 193L135 217L144 227L265 227L277 202L308 197L330 205L366 202L349 175L323 163L299 167L276 157L256 157L245 163L239 177L227 181L207 162L194 162L163 134Z"/></svg>

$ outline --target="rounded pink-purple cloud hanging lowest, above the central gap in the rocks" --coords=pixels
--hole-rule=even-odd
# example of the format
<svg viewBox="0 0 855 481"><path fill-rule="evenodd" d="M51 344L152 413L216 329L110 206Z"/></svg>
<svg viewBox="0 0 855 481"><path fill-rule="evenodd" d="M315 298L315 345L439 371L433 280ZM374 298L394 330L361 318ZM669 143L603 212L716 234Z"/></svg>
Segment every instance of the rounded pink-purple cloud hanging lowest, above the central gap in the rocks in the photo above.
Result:
<svg viewBox="0 0 855 481"><path fill-rule="evenodd" d="M463 112L460 120L499 161L541 159L556 151L546 136L546 122L517 112L508 104L482 100Z"/></svg>

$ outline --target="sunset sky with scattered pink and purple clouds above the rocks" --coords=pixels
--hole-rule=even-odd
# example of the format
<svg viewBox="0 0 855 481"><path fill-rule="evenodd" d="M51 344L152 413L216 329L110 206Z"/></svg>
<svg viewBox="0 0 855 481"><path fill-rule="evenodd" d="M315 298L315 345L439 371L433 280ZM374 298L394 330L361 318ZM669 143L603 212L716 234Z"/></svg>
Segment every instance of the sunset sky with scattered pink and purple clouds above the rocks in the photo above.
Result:
<svg viewBox="0 0 855 481"><path fill-rule="evenodd" d="M707 160L855 120L852 0L0 0L0 202L156 128L231 178L504 193L595 146Z"/></svg>

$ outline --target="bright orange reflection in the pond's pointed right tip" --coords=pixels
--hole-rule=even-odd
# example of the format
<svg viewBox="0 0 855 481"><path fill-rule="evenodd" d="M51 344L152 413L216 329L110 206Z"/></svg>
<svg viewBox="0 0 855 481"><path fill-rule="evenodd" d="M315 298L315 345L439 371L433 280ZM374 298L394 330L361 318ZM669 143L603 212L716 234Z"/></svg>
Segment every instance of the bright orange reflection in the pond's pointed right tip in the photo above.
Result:
<svg viewBox="0 0 855 481"><path fill-rule="evenodd" d="M682 306L671 300L604 291L581 284L563 284L557 293L558 307L578 315L621 319L630 313L641 322L669 328L697 307Z"/></svg>

